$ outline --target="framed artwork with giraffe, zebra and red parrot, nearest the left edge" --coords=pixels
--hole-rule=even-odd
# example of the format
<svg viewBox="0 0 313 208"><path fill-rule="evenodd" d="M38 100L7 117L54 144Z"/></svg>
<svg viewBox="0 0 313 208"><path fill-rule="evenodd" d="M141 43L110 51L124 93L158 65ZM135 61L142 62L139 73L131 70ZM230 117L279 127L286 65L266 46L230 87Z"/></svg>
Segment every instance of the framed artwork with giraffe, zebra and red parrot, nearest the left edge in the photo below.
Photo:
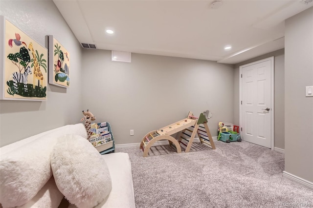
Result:
<svg viewBox="0 0 313 208"><path fill-rule="evenodd" d="M0 16L0 99L47 100L48 50Z"/></svg>

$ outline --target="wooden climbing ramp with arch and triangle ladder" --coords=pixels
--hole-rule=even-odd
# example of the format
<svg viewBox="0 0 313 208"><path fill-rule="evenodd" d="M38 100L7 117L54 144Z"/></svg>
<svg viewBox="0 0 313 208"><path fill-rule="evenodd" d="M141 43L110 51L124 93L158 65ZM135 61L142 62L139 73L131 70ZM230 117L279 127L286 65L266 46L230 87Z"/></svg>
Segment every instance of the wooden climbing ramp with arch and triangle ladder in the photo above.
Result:
<svg viewBox="0 0 313 208"><path fill-rule="evenodd" d="M188 132L191 132L191 135L189 135ZM178 140L171 136L175 133L178 133ZM143 151L143 157L147 157L150 147L153 146L155 142L168 140L170 145L175 145L177 153L181 152L180 144L186 146L185 152L189 152L196 134L199 136L201 144L206 144L212 149L215 149L210 129L207 125L207 119L203 113L201 113L199 117L195 117L192 112L189 112L185 119L146 134L139 148ZM189 136L189 139L185 137L186 135ZM188 143L183 143L182 139Z"/></svg>

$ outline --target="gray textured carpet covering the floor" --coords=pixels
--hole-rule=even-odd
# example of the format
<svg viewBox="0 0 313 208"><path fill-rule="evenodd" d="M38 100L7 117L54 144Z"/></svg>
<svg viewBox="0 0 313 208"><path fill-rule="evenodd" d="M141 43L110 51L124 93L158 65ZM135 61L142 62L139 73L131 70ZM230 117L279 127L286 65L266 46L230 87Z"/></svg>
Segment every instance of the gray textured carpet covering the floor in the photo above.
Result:
<svg viewBox="0 0 313 208"><path fill-rule="evenodd" d="M136 208L313 207L313 190L283 177L283 153L244 141L215 145L179 154L153 146L145 158L139 145L117 146L130 156Z"/></svg>

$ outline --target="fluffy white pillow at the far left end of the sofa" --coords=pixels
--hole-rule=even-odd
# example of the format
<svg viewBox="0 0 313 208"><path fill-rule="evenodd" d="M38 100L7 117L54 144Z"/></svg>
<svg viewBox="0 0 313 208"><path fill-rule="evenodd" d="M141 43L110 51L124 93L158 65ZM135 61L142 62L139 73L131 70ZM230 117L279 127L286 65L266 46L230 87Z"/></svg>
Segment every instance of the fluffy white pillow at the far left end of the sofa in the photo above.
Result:
<svg viewBox="0 0 313 208"><path fill-rule="evenodd" d="M3 207L27 203L51 178L50 153L56 142L53 135L45 135L1 154L0 203Z"/></svg>

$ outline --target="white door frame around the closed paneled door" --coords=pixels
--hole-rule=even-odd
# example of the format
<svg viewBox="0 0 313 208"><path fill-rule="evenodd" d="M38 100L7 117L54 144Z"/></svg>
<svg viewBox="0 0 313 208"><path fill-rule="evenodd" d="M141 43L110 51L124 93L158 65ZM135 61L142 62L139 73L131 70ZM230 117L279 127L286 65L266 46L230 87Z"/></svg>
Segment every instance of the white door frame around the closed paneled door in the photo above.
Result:
<svg viewBox="0 0 313 208"><path fill-rule="evenodd" d="M270 109L271 109L271 133L270 133L270 140L271 140L271 150L274 150L274 57L268 57L266 59L262 59L256 62L251 62L247 63L245 65L239 66L239 125L242 127L242 68L249 66L249 65L254 65L256 63L261 63L261 62L266 62L266 61L271 61L271 69L270 69L270 89L271 89L271 102L270 102ZM242 135L242 130L240 128L240 134ZM244 140L244 139L243 139Z"/></svg>

